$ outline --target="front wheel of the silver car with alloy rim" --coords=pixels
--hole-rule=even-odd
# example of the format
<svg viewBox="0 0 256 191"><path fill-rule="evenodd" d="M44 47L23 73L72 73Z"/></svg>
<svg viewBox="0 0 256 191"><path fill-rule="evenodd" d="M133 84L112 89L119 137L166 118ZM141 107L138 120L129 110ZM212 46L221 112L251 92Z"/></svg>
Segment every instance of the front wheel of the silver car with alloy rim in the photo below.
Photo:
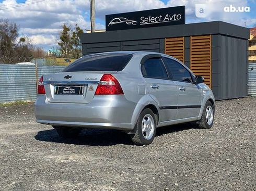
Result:
<svg viewBox="0 0 256 191"><path fill-rule="evenodd" d="M200 129L210 129L213 126L213 122L214 122L214 107L211 101L207 101L204 106L201 120L197 124Z"/></svg>

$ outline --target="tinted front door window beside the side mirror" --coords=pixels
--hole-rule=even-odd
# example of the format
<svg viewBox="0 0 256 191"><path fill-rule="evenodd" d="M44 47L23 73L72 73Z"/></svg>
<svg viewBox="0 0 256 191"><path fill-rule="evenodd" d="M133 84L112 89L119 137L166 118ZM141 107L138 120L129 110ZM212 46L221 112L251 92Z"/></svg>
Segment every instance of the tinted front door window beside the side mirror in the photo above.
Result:
<svg viewBox="0 0 256 191"><path fill-rule="evenodd" d="M173 80L193 82L190 72L184 66L182 66L179 62L170 58L165 58L165 57L164 57L164 60L166 63L166 68L172 75Z"/></svg>

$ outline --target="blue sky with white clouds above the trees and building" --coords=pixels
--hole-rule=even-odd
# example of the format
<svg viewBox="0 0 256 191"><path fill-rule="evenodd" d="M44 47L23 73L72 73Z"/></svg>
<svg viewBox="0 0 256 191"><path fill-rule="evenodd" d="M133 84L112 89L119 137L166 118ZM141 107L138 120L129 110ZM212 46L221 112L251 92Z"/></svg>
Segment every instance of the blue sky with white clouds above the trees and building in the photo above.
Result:
<svg viewBox="0 0 256 191"><path fill-rule="evenodd" d="M204 7L204 18L196 17L196 4ZM220 20L248 28L256 24L256 0L96 0L96 29L105 29L108 14L181 5L186 7L186 23ZM240 9L227 12L230 7ZM90 0L0 0L1 18L16 22L20 35L47 50L57 45L63 23L90 29Z"/></svg>

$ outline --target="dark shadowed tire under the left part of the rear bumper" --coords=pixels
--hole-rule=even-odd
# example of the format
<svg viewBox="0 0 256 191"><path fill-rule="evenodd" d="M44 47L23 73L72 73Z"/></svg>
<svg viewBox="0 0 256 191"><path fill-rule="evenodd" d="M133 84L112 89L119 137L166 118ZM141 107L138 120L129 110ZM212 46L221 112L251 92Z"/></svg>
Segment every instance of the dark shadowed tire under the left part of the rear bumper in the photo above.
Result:
<svg viewBox="0 0 256 191"><path fill-rule="evenodd" d="M57 134L62 138L75 138L82 131L79 128L69 128L66 126L53 126Z"/></svg>

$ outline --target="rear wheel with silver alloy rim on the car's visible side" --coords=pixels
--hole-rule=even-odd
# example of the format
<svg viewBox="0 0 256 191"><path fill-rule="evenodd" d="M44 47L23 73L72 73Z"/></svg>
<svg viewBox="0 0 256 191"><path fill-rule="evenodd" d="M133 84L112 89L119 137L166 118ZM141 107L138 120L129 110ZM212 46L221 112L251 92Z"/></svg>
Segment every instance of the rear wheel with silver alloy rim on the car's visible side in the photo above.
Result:
<svg viewBox="0 0 256 191"><path fill-rule="evenodd" d="M155 114L149 108L144 109L139 114L135 124L136 132L130 135L135 145L149 145L153 142L156 135L157 121Z"/></svg>

